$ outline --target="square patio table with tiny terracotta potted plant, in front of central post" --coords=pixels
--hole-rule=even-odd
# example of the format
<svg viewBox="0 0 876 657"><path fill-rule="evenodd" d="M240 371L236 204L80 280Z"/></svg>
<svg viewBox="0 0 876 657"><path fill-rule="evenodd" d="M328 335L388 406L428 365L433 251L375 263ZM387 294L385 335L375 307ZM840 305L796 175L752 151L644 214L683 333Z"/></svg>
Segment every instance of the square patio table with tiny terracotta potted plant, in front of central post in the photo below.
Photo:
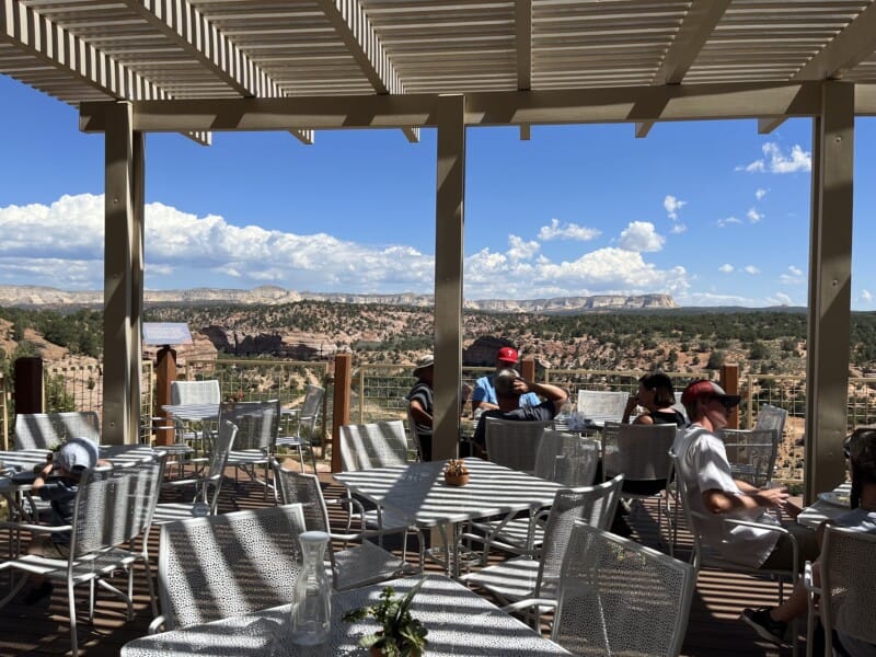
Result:
<svg viewBox="0 0 876 657"><path fill-rule="evenodd" d="M520 511L534 514L553 504L561 484L497 465L481 459L465 459L471 473L465 486L445 483L443 461L408 463L391 468L359 470L334 474L348 491L392 511L420 529L436 528L448 548L448 558L437 557L448 575L459 576L460 522L504 516L510 520ZM499 523L496 531L504 527ZM450 532L448 532L448 528ZM448 535L450 534L450 535Z"/></svg>

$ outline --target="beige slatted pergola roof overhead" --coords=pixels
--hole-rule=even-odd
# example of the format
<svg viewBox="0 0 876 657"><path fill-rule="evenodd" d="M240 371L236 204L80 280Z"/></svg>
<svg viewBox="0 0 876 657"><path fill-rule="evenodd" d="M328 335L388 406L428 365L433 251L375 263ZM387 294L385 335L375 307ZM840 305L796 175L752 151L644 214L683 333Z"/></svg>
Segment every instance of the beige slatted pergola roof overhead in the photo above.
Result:
<svg viewBox="0 0 876 657"><path fill-rule="evenodd" d="M76 106L840 79L858 83L856 114L876 114L874 50L876 7L861 0L0 2L0 72ZM673 118L661 102L620 118L644 136ZM763 130L811 113L749 105Z"/></svg>

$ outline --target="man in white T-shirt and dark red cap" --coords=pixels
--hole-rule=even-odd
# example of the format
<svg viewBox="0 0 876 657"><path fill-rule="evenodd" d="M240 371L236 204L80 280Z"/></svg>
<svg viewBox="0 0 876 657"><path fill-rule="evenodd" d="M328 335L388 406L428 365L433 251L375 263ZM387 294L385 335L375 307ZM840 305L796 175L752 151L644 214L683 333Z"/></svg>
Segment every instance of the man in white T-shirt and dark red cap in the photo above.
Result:
<svg viewBox="0 0 876 657"><path fill-rule="evenodd" d="M678 458L678 476L684 480L690 508L703 518L703 541L728 562L753 568L791 569L818 556L815 532L794 521L799 507L788 502L787 488L757 488L734 480L727 452L718 431L739 404L739 395L727 394L712 381L701 379L684 389L681 403L691 424L681 428L672 443ZM777 531L748 526L729 526L723 518L779 525L766 509L781 509L791 518L782 526L793 533L799 548L794 564L792 540Z"/></svg>

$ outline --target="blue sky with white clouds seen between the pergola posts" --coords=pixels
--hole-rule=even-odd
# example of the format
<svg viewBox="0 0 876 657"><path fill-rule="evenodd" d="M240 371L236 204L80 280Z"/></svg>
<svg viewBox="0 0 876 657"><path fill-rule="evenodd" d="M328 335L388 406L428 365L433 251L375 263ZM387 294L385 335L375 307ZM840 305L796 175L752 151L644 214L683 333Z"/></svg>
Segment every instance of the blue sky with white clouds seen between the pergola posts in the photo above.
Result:
<svg viewBox="0 0 876 657"><path fill-rule="evenodd" d="M465 297L665 292L681 306L805 306L808 119L476 128ZM876 119L858 119L853 308L872 310ZM102 289L103 137L0 76L0 285ZM147 137L148 289L430 293L435 132Z"/></svg>

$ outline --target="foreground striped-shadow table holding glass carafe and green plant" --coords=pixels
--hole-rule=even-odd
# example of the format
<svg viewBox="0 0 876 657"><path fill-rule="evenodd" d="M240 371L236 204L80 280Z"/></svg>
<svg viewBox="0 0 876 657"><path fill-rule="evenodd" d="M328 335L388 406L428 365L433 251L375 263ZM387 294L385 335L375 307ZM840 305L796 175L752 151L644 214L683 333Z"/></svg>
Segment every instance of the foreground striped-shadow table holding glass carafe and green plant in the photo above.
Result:
<svg viewBox="0 0 876 657"><path fill-rule="evenodd" d="M288 637L289 606L275 607L253 614L224 619L205 625L143 636L122 648L122 657L304 657L325 655L367 656L358 641L379 627L367 619L356 623L342 621L345 612L378 601L384 586L405 593L419 580L406 577L332 596L332 625L328 645L297 648ZM570 655L557 644L542 638L532 627L500 611L464 586L429 575L414 598L411 612L429 631L427 655L459 657L549 657Z"/></svg>

